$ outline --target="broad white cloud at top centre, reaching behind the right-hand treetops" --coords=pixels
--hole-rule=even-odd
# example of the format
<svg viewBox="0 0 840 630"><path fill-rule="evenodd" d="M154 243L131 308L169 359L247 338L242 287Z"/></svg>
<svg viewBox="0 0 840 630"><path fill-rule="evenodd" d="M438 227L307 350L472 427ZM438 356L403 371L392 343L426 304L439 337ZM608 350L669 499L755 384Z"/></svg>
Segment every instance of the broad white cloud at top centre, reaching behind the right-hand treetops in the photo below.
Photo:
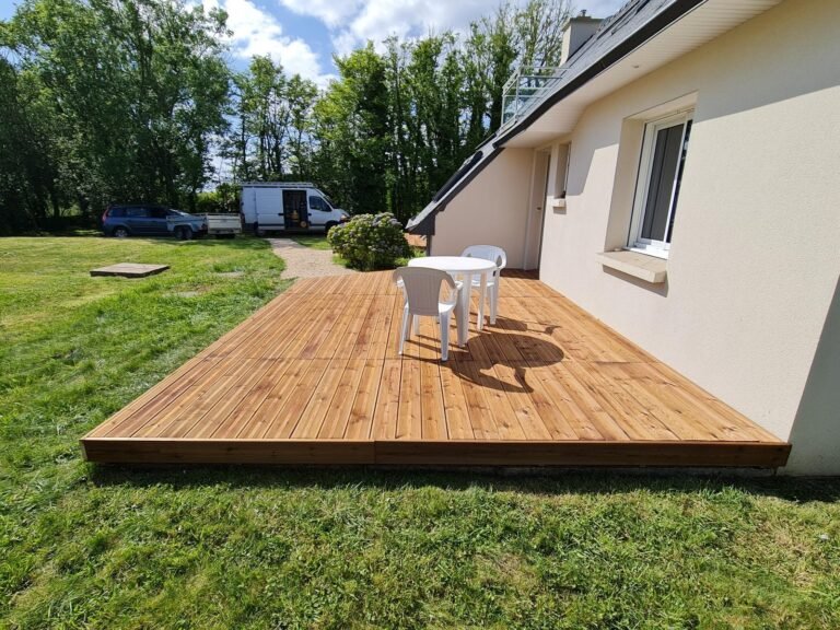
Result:
<svg viewBox="0 0 840 630"><path fill-rule="evenodd" d="M339 55L371 39L381 47L390 35L422 36L429 32L464 33L474 20L491 13L498 3L487 0L277 0L301 15L320 20L330 31L332 46ZM518 0L524 3L524 0ZM625 0L575 0L575 10L606 18Z"/></svg>

